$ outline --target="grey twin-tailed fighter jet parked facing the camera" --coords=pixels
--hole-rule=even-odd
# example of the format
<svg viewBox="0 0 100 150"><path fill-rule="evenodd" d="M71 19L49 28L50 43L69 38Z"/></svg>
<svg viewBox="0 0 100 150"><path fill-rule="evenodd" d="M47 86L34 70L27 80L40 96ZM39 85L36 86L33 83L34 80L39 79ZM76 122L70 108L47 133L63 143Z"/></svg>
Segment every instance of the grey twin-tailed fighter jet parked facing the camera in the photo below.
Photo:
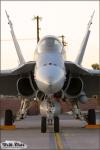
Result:
<svg viewBox="0 0 100 150"><path fill-rule="evenodd" d="M94 12L75 62L66 61L64 46L52 35L45 36L38 42L34 61L25 62L7 12L6 15L20 64L13 70L1 70L0 95L21 98L17 117L24 118L31 102L37 100L40 104L41 132L46 132L47 120L51 120L51 123L53 120L54 132L59 132L60 101L70 101L76 119L83 118L88 123L95 124L95 110L91 109L84 115L79 108L79 103L86 103L93 95L100 95L100 71L81 66ZM7 114L9 111L5 120Z"/></svg>

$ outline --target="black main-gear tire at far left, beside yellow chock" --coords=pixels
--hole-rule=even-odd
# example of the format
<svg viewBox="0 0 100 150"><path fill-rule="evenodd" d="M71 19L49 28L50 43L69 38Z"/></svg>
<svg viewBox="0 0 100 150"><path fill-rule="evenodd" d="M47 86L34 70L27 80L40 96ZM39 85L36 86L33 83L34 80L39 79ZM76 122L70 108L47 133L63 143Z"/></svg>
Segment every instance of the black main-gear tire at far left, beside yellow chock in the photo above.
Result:
<svg viewBox="0 0 100 150"><path fill-rule="evenodd" d="M10 109L5 111L5 125L13 125L14 117Z"/></svg>

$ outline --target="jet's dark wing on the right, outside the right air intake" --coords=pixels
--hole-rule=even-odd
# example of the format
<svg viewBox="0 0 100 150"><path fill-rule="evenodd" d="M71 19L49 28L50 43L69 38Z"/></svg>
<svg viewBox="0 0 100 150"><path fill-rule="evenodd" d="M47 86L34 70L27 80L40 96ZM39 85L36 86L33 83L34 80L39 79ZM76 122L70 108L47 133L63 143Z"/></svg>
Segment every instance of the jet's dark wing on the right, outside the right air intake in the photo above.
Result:
<svg viewBox="0 0 100 150"><path fill-rule="evenodd" d="M100 95L100 70L85 69L72 62L65 62L66 73L69 76L80 77L83 81L83 89L88 97Z"/></svg>

